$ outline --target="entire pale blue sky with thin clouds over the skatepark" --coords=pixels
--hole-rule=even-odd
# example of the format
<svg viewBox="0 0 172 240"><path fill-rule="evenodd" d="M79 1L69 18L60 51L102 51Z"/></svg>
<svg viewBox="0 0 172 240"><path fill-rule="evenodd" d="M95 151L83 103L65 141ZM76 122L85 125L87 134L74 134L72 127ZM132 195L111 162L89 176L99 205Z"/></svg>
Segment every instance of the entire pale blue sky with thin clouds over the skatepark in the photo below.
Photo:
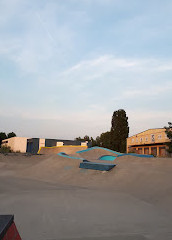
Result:
<svg viewBox="0 0 172 240"><path fill-rule="evenodd" d="M172 121L171 0L0 0L0 131L130 136Z"/></svg>

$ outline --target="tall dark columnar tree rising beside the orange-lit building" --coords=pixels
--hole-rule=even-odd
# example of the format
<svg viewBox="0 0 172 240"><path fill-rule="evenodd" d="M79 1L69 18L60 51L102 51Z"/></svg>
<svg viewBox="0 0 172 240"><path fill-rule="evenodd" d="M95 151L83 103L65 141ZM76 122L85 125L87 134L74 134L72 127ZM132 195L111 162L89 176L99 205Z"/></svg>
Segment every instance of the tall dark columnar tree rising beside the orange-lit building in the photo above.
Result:
<svg viewBox="0 0 172 240"><path fill-rule="evenodd" d="M111 148L119 152L125 152L128 134L128 117L125 110L119 109L112 116Z"/></svg>

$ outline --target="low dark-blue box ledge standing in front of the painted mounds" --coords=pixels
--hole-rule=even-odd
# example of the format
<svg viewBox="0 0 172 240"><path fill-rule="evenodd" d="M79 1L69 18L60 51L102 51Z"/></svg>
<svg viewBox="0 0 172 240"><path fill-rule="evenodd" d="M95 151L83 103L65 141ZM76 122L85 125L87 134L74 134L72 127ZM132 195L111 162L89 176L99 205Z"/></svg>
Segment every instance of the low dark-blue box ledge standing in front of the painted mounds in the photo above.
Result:
<svg viewBox="0 0 172 240"><path fill-rule="evenodd" d="M99 170L99 171L109 171L115 166L116 166L115 164L108 164L108 163L82 162L80 163L79 168Z"/></svg>

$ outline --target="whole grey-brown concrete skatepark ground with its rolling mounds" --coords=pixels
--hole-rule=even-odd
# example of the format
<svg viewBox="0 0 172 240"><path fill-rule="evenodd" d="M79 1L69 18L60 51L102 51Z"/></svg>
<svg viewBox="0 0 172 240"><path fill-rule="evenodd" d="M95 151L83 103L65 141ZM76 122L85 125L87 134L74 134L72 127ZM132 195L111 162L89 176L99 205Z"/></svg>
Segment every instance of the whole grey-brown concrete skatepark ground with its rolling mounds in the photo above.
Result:
<svg viewBox="0 0 172 240"><path fill-rule="evenodd" d="M68 154L96 161L109 152ZM14 214L23 240L172 239L171 158L124 155L109 172L81 161L0 154L0 213Z"/></svg>

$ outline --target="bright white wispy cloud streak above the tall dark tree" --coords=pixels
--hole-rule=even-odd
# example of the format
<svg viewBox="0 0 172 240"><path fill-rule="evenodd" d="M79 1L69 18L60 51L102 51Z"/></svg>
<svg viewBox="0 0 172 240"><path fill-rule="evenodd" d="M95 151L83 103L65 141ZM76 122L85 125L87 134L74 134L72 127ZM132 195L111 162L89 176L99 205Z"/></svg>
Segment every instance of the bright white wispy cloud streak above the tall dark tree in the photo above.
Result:
<svg viewBox="0 0 172 240"><path fill-rule="evenodd" d="M130 95L130 87L136 85L139 82L149 83L150 90L155 87L155 90L162 91L161 85L163 82L159 83L162 78L163 73L172 71L170 68L172 65L171 60L161 60L161 59L138 59L138 58L120 58L113 55L103 55L95 59L84 60L71 68L65 70L58 75L58 78L62 80L63 84L70 82L73 86L77 85L78 82L82 83L84 88L84 82L101 84L101 82L106 82L106 84L111 84L112 87L117 87L115 84L119 82L126 83L124 91L126 91L126 96ZM168 79L164 76L163 81ZM51 80L50 80L51 81ZM157 86L155 84L157 83ZM56 79L52 79L52 83L56 83ZM168 83L167 88L171 88ZM153 85L153 86L152 86ZM126 90L126 88L129 88ZM163 86L164 87L164 86ZM144 86L142 87L144 88ZM146 87L147 89L147 87ZM139 89L132 89L139 93ZM156 91L154 91L156 92ZM137 94L137 93L136 93Z"/></svg>

